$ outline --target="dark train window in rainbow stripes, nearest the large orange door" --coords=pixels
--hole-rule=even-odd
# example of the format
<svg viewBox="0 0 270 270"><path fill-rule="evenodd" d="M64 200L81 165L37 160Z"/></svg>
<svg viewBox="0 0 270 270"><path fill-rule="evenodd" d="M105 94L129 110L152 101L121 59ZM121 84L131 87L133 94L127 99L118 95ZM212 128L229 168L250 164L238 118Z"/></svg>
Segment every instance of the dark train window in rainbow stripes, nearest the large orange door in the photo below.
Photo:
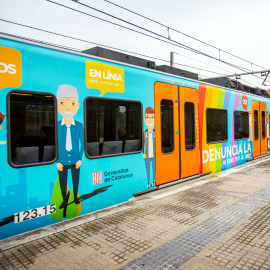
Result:
<svg viewBox="0 0 270 270"><path fill-rule="evenodd" d="M225 142L228 140L227 110L207 109L207 143Z"/></svg>

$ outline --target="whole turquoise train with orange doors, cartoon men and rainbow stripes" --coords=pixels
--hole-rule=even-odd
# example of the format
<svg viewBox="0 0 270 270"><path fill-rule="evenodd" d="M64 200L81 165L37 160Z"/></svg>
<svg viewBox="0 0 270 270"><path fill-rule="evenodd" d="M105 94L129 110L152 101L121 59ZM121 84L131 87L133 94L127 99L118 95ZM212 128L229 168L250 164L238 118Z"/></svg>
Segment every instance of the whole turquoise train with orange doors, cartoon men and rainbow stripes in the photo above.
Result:
<svg viewBox="0 0 270 270"><path fill-rule="evenodd" d="M0 240L268 155L269 112L229 79L1 34Z"/></svg>

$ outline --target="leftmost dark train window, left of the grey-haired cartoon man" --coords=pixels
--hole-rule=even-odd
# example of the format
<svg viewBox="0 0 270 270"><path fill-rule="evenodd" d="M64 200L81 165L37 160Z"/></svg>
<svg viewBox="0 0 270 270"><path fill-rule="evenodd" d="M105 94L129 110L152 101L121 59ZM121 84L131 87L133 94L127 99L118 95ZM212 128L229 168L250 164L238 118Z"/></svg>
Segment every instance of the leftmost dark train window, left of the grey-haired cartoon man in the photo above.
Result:
<svg viewBox="0 0 270 270"><path fill-rule="evenodd" d="M9 162L14 167L56 160L56 99L48 93L12 91L8 96Z"/></svg>

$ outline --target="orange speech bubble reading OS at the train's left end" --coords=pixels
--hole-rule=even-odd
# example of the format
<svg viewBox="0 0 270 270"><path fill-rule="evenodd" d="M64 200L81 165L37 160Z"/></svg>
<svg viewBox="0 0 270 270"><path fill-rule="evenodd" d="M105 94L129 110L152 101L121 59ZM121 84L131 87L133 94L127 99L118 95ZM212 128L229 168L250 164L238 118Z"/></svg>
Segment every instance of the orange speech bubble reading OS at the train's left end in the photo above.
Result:
<svg viewBox="0 0 270 270"><path fill-rule="evenodd" d="M20 87L22 84L22 59L20 51L0 46L0 90Z"/></svg>

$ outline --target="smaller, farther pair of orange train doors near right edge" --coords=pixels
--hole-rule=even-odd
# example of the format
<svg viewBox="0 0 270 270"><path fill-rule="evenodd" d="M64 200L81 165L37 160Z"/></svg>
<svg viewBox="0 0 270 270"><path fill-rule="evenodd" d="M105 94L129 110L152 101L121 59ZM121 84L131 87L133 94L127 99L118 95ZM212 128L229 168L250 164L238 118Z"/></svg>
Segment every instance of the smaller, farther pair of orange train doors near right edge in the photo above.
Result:
<svg viewBox="0 0 270 270"><path fill-rule="evenodd" d="M253 157L267 153L267 123L266 104L264 102L252 101L253 118Z"/></svg>

